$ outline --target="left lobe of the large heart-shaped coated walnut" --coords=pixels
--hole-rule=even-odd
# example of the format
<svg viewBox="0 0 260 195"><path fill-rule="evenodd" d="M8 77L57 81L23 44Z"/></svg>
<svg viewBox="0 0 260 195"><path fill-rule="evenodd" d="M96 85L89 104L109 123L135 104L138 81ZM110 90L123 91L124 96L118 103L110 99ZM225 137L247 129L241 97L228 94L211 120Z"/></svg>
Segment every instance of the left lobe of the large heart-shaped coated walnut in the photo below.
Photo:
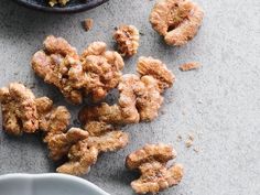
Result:
<svg viewBox="0 0 260 195"><path fill-rule="evenodd" d="M44 51L36 52L32 57L33 71L44 82L56 86L68 101L80 104L85 74L76 48L66 40L53 35L47 36L43 44Z"/></svg>

